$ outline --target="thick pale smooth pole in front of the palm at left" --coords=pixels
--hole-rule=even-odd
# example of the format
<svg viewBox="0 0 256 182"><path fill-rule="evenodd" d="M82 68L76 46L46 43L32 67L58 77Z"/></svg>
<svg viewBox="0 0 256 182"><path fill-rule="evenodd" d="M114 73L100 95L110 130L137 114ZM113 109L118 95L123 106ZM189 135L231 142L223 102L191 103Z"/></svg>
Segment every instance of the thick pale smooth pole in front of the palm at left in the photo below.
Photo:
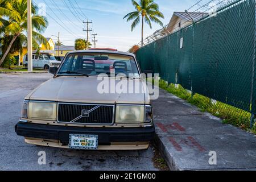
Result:
<svg viewBox="0 0 256 182"><path fill-rule="evenodd" d="M27 71L33 71L32 65L32 20L31 20L31 0L27 0Z"/></svg>

